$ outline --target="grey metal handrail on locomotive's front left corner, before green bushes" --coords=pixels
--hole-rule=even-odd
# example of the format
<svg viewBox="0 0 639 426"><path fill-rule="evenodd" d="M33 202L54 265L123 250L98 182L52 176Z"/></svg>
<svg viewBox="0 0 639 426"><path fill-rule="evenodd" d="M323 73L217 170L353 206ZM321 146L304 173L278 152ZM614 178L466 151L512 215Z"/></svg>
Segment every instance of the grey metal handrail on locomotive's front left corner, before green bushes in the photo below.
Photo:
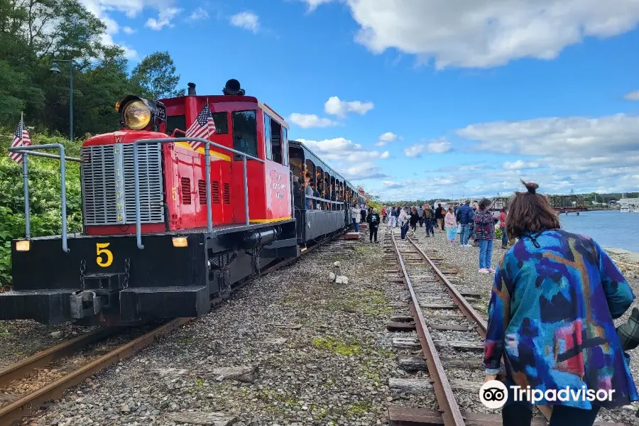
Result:
<svg viewBox="0 0 639 426"><path fill-rule="evenodd" d="M60 155L38 153L33 152L28 155L35 155L36 157L45 158L57 158L60 160L60 203L62 217L62 251L69 253L69 246L67 245L67 178L66 178L66 162L75 161L82 163L80 158L67 157L65 155L65 147L60 143L45 143L45 145L30 145L30 146L16 146L9 148L10 153L22 153L22 179L24 187L24 225L25 225L25 238L31 238L31 217L29 215L29 180L28 180L28 151L38 151L42 149L57 149Z"/></svg>

